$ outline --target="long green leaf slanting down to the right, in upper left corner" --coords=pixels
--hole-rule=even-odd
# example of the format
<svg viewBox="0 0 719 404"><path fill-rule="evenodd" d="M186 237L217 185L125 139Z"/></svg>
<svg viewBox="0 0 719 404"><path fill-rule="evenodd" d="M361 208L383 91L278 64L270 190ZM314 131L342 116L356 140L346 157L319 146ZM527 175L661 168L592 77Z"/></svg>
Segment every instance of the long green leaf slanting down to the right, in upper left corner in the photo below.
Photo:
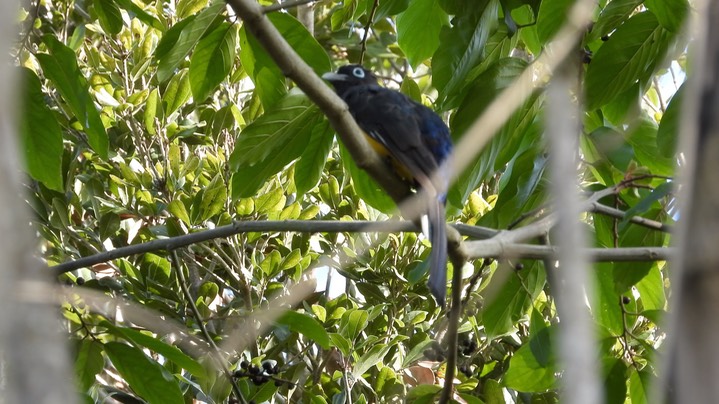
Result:
<svg viewBox="0 0 719 404"><path fill-rule="evenodd" d="M42 72L57 88L70 110L85 129L88 143L103 159L108 155L108 139L100 113L90 97L89 86L77 65L75 52L53 35L45 35L43 42L50 54L38 53Z"/></svg>

